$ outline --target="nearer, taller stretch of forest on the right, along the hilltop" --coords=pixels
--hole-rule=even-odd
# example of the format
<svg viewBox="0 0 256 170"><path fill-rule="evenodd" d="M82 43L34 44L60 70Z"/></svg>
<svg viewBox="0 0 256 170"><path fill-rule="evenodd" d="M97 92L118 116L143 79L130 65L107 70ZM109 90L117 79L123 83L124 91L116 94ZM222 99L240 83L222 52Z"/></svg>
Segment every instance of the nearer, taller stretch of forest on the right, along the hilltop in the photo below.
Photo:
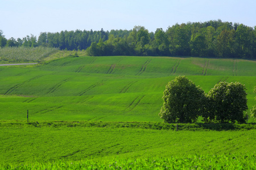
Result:
<svg viewBox="0 0 256 170"><path fill-rule="evenodd" d="M221 58L256 58L256 27L210 21L175 24L150 33L134 27L129 36L109 36L93 42L90 56L196 56Z"/></svg>

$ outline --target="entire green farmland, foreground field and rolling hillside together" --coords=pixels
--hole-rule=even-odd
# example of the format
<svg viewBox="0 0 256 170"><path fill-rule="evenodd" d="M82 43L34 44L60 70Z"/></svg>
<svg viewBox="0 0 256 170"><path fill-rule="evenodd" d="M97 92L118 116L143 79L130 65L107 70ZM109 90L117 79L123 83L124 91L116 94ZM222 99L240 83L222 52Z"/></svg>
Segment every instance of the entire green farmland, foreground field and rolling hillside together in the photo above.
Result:
<svg viewBox="0 0 256 170"><path fill-rule="evenodd" d="M163 91L178 75L206 93L221 81L241 82L251 109L255 61L54 55L59 59L43 65L0 67L0 169L255 167L253 124L240 130L156 130Z"/></svg>

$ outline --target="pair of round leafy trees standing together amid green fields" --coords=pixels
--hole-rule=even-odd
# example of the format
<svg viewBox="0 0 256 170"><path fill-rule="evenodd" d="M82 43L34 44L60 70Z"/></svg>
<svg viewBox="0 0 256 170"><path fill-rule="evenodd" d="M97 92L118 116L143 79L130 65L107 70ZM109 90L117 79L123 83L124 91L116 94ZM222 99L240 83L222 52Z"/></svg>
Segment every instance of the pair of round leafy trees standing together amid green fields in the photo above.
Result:
<svg viewBox="0 0 256 170"><path fill-rule="evenodd" d="M208 94L185 76L178 76L163 92L163 107L159 116L168 123L204 122L245 123L247 108L245 85L220 82Z"/></svg>

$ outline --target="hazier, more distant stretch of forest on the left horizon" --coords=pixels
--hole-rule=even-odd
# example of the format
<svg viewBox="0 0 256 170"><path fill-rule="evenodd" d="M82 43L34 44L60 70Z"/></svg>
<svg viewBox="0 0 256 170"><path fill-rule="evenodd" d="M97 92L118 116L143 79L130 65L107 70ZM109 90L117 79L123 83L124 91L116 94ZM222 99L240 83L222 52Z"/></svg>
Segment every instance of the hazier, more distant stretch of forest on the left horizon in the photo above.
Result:
<svg viewBox="0 0 256 170"><path fill-rule="evenodd" d="M51 32L41 32L38 39L36 36L26 36L23 39L18 38L15 40L11 37L9 40L5 38L3 32L0 30L0 46L25 46L25 47L36 47L45 46L51 48L59 48L60 50L85 50L92 42L98 42L100 40L108 40L109 35L114 36L127 36L131 31L123 30L112 30L112 31L61 31L51 33Z"/></svg>

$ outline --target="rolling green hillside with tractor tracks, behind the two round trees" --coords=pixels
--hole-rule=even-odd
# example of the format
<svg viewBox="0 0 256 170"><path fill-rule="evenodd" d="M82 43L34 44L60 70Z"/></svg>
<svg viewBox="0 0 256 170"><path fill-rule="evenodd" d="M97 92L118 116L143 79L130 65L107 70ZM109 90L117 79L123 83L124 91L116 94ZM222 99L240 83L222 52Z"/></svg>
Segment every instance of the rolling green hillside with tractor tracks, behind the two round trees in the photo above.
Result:
<svg viewBox="0 0 256 170"><path fill-rule="evenodd" d="M220 81L241 82L250 109L255 66L255 61L241 59L125 56L2 66L0 119L24 121L28 109L31 121L162 121L158 112L164 88L178 75L205 92Z"/></svg>

